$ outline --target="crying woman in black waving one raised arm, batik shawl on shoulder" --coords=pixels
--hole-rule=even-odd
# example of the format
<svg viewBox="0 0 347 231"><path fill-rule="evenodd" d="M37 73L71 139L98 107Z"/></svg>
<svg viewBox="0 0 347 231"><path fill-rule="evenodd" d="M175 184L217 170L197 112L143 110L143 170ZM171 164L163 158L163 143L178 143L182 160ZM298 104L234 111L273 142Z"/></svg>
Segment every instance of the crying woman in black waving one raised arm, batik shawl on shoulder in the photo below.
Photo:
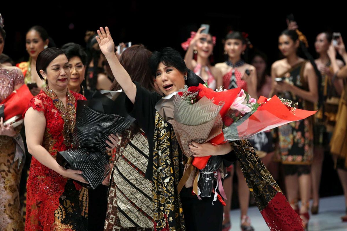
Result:
<svg viewBox="0 0 347 231"><path fill-rule="evenodd" d="M147 135L150 158L146 178L152 180L154 229L221 230L221 203L212 205L213 197L199 200L192 195L192 187L184 187L178 193L178 181L183 175L186 160L172 125L164 121L154 108L162 96L132 82L116 57L108 27L105 30L100 28L98 35L100 49L107 58L116 81L128 97L128 111ZM184 88L184 85L197 86L198 83L203 83L200 77L188 70L179 52L170 47L161 52L153 52L149 63L152 75L164 95L170 95ZM223 155L225 161L234 158L228 143L216 146L211 143L194 145L191 146L192 152L199 156L214 153ZM208 154L206 151L209 151Z"/></svg>

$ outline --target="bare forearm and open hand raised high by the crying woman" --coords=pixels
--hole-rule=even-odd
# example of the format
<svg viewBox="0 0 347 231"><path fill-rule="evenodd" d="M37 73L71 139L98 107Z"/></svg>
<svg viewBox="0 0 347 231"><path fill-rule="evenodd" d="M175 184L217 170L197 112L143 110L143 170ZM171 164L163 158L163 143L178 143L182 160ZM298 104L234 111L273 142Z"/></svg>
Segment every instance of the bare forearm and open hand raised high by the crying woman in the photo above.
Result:
<svg viewBox="0 0 347 231"><path fill-rule="evenodd" d="M100 50L105 55L110 65L113 76L124 90L130 101L134 103L136 97L136 85L133 83L130 75L117 59L115 53L115 43L113 42L109 28L105 27L104 30L102 27L100 27L100 30L97 32L99 36L96 37L96 41L98 41Z"/></svg>

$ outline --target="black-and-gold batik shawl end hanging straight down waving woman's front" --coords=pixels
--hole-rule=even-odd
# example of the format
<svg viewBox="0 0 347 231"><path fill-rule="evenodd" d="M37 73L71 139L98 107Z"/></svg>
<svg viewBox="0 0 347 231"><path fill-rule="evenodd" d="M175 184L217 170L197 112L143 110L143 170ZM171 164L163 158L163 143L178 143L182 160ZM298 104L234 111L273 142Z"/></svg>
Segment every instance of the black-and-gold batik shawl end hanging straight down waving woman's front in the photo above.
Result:
<svg viewBox="0 0 347 231"><path fill-rule="evenodd" d="M185 230L181 199L177 191L179 180L178 142L172 126L157 112L153 151L154 229Z"/></svg>

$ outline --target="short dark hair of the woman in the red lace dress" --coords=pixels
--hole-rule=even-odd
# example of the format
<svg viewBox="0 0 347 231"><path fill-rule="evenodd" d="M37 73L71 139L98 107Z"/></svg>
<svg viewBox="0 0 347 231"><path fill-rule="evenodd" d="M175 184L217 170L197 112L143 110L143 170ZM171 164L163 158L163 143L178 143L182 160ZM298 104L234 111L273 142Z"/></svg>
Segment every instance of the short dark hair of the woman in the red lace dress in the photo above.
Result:
<svg viewBox="0 0 347 231"><path fill-rule="evenodd" d="M41 79L44 79L40 73L40 70L46 72L47 66L59 55L65 55L64 51L59 48L52 47L47 48L40 52L36 59L36 72Z"/></svg>

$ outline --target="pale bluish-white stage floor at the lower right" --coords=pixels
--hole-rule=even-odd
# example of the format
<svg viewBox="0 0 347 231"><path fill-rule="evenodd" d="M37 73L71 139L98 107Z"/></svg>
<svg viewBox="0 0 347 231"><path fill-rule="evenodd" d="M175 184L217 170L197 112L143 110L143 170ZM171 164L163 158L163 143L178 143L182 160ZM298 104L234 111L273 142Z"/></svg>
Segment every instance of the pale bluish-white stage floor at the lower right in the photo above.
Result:
<svg viewBox="0 0 347 231"><path fill-rule="evenodd" d="M311 202L312 203L312 202ZM346 214L344 196L325 197L320 200L319 213L311 215L308 230L321 231L347 231L347 222L341 221L341 216ZM257 207L250 207L248 216L251 219L255 231L269 230ZM230 230L240 230L240 210L231 210L230 219L232 228Z"/></svg>

